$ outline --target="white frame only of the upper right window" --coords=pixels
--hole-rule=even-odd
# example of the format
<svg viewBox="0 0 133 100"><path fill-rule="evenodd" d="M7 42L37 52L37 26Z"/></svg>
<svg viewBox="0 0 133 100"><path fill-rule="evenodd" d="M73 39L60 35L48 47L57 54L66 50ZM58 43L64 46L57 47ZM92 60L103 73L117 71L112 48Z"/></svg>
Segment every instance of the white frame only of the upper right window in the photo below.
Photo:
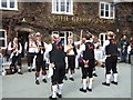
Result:
<svg viewBox="0 0 133 100"><path fill-rule="evenodd" d="M104 16L101 16L101 4L104 4ZM109 17L105 17L105 4L109 4ZM100 14L100 18L104 18L104 19L114 19L115 18L115 8L113 7L113 17L111 17L111 4L110 2L100 2L100 6L99 6L99 14Z"/></svg>

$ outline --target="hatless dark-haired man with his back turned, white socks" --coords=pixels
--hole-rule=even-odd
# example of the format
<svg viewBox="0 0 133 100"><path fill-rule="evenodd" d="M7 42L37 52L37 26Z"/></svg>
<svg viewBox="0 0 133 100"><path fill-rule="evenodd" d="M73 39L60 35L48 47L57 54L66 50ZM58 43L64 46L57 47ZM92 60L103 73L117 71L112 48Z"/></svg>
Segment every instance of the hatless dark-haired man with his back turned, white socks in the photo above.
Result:
<svg viewBox="0 0 133 100"><path fill-rule="evenodd" d="M92 91L93 81L93 68L94 68L94 44L91 41L91 34L85 36L85 43L80 48L80 54L82 53L82 83L83 88L80 88L81 92L86 92L86 90ZM89 77L89 80L86 78ZM89 87L86 86L89 83Z"/></svg>

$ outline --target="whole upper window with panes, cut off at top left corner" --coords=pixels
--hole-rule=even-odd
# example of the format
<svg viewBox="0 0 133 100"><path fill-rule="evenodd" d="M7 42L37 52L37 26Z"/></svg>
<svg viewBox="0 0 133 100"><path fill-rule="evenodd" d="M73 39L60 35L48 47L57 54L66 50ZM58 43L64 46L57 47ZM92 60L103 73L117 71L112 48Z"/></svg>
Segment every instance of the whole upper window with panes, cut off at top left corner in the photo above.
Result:
<svg viewBox="0 0 133 100"><path fill-rule="evenodd" d="M0 0L0 9L18 10L18 0Z"/></svg>

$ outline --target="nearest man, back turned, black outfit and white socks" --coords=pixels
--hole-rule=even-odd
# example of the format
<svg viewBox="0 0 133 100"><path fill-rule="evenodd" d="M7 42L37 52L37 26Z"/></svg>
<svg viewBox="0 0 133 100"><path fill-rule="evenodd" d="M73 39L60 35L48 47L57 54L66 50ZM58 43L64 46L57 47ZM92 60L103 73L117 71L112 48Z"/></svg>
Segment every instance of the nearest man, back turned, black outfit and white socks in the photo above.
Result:
<svg viewBox="0 0 133 100"><path fill-rule="evenodd" d="M50 67L52 67L52 96L50 99L57 97L62 98L63 79L65 76L65 52L61 40L54 36L53 42L49 46L47 53L50 56ZM50 68L49 68L50 69Z"/></svg>

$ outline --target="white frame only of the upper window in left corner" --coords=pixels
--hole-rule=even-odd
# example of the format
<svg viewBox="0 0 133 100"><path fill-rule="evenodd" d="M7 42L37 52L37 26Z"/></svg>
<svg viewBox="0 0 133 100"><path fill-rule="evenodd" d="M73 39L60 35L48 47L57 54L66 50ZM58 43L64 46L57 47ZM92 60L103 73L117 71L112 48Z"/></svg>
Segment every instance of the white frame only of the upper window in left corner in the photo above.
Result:
<svg viewBox="0 0 133 100"><path fill-rule="evenodd" d="M7 0L7 8L3 8L2 0L0 0L0 9L1 10L18 10L18 0L14 0L14 8L10 8L10 1L11 0Z"/></svg>

